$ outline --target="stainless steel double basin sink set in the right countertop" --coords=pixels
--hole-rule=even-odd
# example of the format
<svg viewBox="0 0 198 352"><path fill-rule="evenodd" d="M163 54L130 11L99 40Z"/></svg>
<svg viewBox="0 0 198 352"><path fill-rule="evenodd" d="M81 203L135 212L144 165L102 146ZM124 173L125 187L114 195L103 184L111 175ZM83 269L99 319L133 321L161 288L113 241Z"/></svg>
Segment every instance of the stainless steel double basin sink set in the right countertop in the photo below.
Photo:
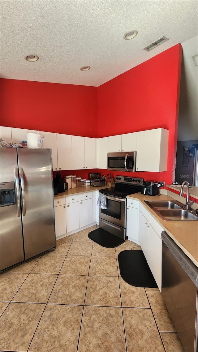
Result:
<svg viewBox="0 0 198 352"><path fill-rule="evenodd" d="M197 215L187 210L178 201L144 201L156 214L165 221L169 220L198 220Z"/></svg>

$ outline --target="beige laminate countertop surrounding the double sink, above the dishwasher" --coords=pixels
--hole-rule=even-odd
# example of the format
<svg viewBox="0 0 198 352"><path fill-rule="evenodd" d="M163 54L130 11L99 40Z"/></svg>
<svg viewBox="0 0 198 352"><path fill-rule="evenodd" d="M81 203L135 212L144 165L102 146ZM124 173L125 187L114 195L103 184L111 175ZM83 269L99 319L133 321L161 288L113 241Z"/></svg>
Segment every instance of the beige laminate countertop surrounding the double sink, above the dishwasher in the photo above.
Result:
<svg viewBox="0 0 198 352"><path fill-rule="evenodd" d="M174 200L167 195L161 194L151 197L136 193L127 196L127 198L140 200L182 251L198 266L198 221L164 221L144 202L144 200Z"/></svg>

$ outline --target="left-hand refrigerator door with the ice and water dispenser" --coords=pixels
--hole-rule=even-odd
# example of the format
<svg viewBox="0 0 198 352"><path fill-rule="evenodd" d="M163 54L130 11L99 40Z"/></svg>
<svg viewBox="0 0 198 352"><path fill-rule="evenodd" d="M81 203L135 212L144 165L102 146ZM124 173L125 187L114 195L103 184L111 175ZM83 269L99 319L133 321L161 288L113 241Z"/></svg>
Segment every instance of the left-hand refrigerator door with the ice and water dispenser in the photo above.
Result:
<svg viewBox="0 0 198 352"><path fill-rule="evenodd" d="M6 197L12 195L12 185L15 201L7 199L6 204ZM24 260L17 150L14 148L0 148L0 203L0 270L3 270Z"/></svg>

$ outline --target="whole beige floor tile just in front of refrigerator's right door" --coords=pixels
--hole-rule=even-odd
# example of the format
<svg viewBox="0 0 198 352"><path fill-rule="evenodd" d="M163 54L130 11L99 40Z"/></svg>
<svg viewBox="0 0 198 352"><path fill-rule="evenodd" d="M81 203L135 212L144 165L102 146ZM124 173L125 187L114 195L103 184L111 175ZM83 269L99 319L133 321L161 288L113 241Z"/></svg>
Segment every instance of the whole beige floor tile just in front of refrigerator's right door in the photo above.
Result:
<svg viewBox="0 0 198 352"><path fill-rule="evenodd" d="M43 255L35 265L31 273L35 274L58 274L66 256Z"/></svg>

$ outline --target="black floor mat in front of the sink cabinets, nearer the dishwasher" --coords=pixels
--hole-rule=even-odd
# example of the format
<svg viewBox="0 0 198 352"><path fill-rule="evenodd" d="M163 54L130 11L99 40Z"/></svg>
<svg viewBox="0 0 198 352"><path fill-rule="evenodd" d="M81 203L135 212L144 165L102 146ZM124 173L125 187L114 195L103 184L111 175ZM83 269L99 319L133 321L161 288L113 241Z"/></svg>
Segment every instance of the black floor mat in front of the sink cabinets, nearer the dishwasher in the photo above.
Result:
<svg viewBox="0 0 198 352"><path fill-rule="evenodd" d="M127 250L118 254L120 275L137 287L158 287L142 250Z"/></svg>

